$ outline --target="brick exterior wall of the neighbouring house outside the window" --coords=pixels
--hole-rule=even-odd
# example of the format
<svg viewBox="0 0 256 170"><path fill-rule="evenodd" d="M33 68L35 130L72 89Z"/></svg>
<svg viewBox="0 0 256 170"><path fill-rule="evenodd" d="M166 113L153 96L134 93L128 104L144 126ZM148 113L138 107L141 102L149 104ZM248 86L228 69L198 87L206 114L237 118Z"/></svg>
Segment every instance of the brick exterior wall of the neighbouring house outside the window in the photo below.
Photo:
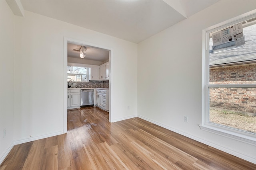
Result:
<svg viewBox="0 0 256 170"><path fill-rule="evenodd" d="M211 68L210 84L256 84L256 64ZM210 88L210 107L256 114L256 88Z"/></svg>

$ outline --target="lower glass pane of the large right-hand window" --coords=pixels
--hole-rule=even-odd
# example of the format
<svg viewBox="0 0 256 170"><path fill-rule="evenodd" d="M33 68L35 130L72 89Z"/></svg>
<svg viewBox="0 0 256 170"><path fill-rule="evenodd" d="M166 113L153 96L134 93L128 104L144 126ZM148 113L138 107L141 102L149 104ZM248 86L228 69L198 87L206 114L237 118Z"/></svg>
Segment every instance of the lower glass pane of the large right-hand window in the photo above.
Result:
<svg viewBox="0 0 256 170"><path fill-rule="evenodd" d="M210 87L209 122L256 133L256 88Z"/></svg>

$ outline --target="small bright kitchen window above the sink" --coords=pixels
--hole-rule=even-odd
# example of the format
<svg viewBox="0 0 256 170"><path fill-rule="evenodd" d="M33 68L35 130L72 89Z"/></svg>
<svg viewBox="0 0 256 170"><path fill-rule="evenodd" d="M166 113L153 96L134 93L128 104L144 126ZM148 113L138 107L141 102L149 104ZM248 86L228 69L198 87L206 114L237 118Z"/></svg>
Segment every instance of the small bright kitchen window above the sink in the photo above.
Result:
<svg viewBox="0 0 256 170"><path fill-rule="evenodd" d="M88 67L68 66L68 81L88 82Z"/></svg>

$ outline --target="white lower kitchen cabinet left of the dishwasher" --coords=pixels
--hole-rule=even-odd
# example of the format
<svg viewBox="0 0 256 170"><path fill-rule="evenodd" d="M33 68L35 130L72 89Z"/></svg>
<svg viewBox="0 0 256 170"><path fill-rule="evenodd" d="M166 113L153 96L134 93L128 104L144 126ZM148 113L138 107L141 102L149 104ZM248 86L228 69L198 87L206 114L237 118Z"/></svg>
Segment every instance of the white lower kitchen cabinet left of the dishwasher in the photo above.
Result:
<svg viewBox="0 0 256 170"><path fill-rule="evenodd" d="M68 90L68 109L80 108L80 89Z"/></svg>

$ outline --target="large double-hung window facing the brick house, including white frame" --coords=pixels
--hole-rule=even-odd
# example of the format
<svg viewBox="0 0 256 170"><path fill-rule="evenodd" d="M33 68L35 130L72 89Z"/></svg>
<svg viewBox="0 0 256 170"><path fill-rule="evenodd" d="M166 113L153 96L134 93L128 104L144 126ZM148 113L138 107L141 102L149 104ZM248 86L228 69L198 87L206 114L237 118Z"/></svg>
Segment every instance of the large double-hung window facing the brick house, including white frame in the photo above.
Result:
<svg viewBox="0 0 256 170"><path fill-rule="evenodd" d="M204 30L201 129L256 141L256 14Z"/></svg>

